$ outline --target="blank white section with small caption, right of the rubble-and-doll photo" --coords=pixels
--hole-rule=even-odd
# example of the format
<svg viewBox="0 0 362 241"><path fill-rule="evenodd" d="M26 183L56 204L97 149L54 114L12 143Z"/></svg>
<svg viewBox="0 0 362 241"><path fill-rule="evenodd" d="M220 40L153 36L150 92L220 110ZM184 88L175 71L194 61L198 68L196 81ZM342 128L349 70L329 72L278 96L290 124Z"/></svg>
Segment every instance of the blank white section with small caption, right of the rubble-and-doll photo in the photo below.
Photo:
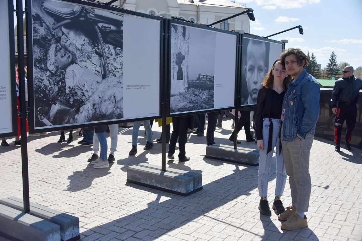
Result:
<svg viewBox="0 0 362 241"><path fill-rule="evenodd" d="M124 15L123 115L138 118L159 115L160 21ZM127 90L126 85L151 85Z"/></svg>

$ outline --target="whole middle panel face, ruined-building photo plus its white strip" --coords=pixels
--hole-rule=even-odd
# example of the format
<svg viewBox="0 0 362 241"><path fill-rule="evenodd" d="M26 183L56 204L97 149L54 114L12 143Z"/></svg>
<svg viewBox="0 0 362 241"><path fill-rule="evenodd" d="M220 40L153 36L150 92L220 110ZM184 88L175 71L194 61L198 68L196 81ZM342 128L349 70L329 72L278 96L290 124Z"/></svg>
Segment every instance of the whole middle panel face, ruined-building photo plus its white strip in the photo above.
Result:
<svg viewBox="0 0 362 241"><path fill-rule="evenodd" d="M171 25L170 114L234 107L237 35Z"/></svg>

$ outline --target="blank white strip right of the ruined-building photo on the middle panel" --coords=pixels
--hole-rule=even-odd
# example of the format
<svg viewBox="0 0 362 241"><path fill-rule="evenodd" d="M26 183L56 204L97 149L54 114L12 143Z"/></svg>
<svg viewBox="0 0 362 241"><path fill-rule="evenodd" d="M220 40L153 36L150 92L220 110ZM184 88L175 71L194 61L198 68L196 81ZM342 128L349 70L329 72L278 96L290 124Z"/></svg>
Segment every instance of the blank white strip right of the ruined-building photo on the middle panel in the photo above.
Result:
<svg viewBox="0 0 362 241"><path fill-rule="evenodd" d="M215 108L234 106L236 35L217 33L215 48ZM218 87L218 86L222 87Z"/></svg>

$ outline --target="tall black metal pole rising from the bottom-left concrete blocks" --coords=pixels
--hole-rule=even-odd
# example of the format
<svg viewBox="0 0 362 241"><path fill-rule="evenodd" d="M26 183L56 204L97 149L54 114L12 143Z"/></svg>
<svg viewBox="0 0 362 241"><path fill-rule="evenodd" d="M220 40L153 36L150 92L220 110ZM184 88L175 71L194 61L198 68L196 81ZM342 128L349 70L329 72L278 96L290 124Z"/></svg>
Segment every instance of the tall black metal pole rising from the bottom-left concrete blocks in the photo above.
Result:
<svg viewBox="0 0 362 241"><path fill-rule="evenodd" d="M30 213L29 201L29 168L28 168L28 144L26 137L26 103L25 103L25 72L24 72L24 26L23 26L22 0L16 1L17 39L18 39L18 80L20 98L20 133L21 133L21 170L23 184L24 212ZM14 71L14 70L12 70Z"/></svg>

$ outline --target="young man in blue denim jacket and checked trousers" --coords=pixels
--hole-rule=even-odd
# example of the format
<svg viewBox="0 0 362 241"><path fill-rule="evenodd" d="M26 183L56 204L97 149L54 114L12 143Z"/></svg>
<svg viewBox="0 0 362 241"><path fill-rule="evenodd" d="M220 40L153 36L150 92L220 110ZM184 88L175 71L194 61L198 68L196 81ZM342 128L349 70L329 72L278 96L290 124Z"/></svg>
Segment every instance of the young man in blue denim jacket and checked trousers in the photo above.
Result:
<svg viewBox="0 0 362 241"><path fill-rule="evenodd" d="M300 50L289 48L280 56L287 73L292 76L283 100L282 147L292 198L292 206L279 214L282 229L307 227L311 195L309 156L319 116L320 88L316 79L304 70L308 57Z"/></svg>

